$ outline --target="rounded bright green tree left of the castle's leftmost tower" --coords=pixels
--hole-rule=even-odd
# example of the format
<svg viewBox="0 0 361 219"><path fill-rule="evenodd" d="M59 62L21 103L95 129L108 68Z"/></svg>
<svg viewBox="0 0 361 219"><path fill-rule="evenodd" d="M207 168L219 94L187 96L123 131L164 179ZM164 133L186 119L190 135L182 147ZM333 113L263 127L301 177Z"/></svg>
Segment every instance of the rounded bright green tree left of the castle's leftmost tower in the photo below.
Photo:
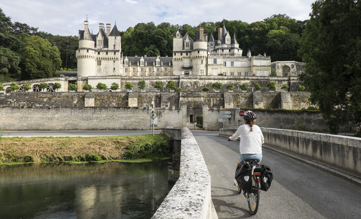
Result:
<svg viewBox="0 0 361 219"><path fill-rule="evenodd" d="M21 49L21 79L53 77L60 68L60 53L57 47L38 36L24 39Z"/></svg>

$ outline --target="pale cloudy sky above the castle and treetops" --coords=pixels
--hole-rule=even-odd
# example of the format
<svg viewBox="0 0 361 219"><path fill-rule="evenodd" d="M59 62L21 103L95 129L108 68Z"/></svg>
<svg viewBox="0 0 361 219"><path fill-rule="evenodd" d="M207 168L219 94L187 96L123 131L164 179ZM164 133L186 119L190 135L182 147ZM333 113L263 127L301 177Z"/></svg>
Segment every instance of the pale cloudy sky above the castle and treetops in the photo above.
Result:
<svg viewBox="0 0 361 219"><path fill-rule="evenodd" d="M84 30L98 33L99 23L117 24L126 31L138 23L153 21L198 26L200 22L261 21L286 14L296 20L309 19L315 0L0 0L0 8L12 22L38 27L38 31L60 36L78 36Z"/></svg>

